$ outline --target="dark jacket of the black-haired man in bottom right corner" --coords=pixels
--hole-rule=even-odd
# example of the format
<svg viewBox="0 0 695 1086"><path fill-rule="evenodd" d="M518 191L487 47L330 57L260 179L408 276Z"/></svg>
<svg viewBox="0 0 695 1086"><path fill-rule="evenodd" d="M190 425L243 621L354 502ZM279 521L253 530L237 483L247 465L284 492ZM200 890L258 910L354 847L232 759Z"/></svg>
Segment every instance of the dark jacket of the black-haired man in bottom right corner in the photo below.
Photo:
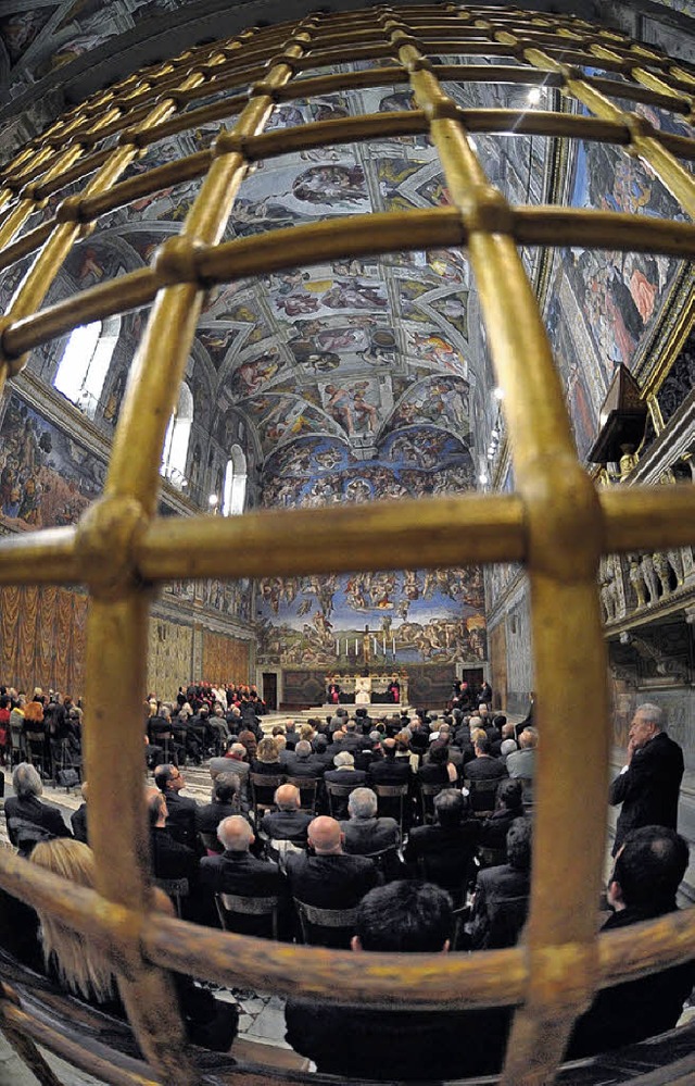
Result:
<svg viewBox="0 0 695 1086"><path fill-rule="evenodd" d="M666 911L674 910L675 903ZM623 909L609 916L602 931L626 927L648 919L645 912L637 909ZM589 1010L577 1020L566 1058L574 1060L622 1045L633 1045L645 1037L672 1029L694 984L695 961L690 961L637 981L602 989Z"/></svg>

